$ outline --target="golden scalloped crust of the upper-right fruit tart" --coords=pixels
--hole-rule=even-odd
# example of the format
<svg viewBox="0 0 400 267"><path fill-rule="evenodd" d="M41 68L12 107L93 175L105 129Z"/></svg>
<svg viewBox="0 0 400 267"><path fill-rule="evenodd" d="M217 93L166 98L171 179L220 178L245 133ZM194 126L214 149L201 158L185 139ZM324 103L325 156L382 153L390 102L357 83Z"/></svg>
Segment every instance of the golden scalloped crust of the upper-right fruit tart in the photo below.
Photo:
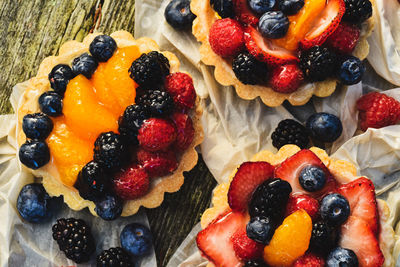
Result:
<svg viewBox="0 0 400 267"><path fill-rule="evenodd" d="M376 12L375 1L373 4L373 14ZM261 85L245 85L235 76L231 64L222 57L215 54L208 41L208 35L212 24L218 19L215 11L210 6L210 1L192 0L190 6L192 12L197 16L193 22L193 35L201 42L201 60L210 66L215 67L215 79L224 86L234 86L240 98L252 100L260 97L265 105L270 107L280 106L283 101L288 100L292 105L304 105L308 100L316 95L318 97L330 96L336 89L338 81L330 78L322 82L306 83L295 92L284 94L275 92L272 88ZM369 18L362 27L359 42L353 51L353 55L365 59L369 53L367 37L371 35L375 24L375 15Z"/></svg>

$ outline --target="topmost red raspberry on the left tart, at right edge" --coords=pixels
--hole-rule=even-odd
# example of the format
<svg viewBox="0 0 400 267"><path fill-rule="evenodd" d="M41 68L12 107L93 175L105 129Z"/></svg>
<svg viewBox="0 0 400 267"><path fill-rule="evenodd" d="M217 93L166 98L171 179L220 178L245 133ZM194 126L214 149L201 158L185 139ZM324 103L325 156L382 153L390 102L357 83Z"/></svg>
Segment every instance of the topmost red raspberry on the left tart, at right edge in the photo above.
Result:
<svg viewBox="0 0 400 267"><path fill-rule="evenodd" d="M176 72L165 78L165 89L174 99L174 103L182 110L191 109L196 101L193 80L186 73Z"/></svg>

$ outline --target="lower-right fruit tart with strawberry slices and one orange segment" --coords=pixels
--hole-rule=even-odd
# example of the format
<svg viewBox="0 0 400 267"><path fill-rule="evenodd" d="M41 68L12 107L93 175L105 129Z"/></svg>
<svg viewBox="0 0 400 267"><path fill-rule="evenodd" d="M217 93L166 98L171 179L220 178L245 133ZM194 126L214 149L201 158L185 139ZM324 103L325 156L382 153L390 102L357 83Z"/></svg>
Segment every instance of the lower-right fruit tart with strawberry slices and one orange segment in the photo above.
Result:
<svg viewBox="0 0 400 267"><path fill-rule="evenodd" d="M282 147L241 164L201 218L209 266L394 266L389 208L324 150Z"/></svg>

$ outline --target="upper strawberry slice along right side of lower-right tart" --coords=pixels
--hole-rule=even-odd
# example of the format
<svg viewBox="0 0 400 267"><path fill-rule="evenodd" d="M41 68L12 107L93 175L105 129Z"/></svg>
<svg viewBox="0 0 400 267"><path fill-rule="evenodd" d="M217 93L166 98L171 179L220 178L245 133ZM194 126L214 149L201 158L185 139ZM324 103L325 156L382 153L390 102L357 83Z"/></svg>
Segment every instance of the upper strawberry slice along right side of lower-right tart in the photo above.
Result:
<svg viewBox="0 0 400 267"><path fill-rule="evenodd" d="M378 232L378 210L375 196L375 186L371 180L361 177L339 187L350 204L352 216L357 216L368 223L374 234Z"/></svg>

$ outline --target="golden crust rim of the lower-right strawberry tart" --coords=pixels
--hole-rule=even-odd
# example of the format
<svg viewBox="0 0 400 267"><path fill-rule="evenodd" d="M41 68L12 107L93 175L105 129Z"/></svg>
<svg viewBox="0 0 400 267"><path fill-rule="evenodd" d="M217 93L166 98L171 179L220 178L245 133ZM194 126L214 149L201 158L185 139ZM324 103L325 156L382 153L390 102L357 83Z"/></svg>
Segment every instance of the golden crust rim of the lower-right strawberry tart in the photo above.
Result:
<svg viewBox="0 0 400 267"><path fill-rule="evenodd" d="M328 167L329 171L335 176L335 178L341 183L348 183L358 178L356 167L350 162L344 160L332 159L328 156L325 150L317 147L310 148L322 162ZM283 162L285 159L293 156L300 151L300 148L295 145L285 145L276 154L271 151L261 151L253 156L250 161L266 161L271 165L277 165ZM211 200L212 207L207 209L201 217L201 227L206 228L214 219L221 213L229 209L228 205L228 190L230 181L235 176L236 170L234 170L229 177L228 183L218 185L214 189L213 197ZM378 212L381 232L379 234L379 246L383 255L385 256L384 267L395 266L395 260L393 258L393 247L394 247L394 230L388 222L390 210L387 203L381 199L378 199ZM207 267L213 267L214 264L208 263Z"/></svg>

